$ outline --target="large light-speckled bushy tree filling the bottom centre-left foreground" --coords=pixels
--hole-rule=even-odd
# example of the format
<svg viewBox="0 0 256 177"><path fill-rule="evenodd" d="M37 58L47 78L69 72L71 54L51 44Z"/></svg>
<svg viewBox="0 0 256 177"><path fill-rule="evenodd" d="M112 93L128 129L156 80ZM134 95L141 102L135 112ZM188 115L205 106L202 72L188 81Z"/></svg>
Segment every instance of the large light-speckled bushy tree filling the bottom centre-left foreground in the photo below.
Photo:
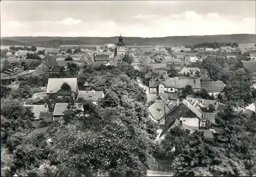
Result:
<svg viewBox="0 0 256 177"><path fill-rule="evenodd" d="M80 123L58 129L53 139L58 143L53 144L51 156L65 165L67 171L80 175L96 171L110 175L144 175L143 166L147 166L146 159L150 158L146 154L151 151L146 142L150 140L144 133L126 127L115 115L103 113L102 116L103 119L91 118L98 123L87 125L90 129L84 130ZM136 140L129 138L134 133ZM80 138L72 138L77 136Z"/></svg>

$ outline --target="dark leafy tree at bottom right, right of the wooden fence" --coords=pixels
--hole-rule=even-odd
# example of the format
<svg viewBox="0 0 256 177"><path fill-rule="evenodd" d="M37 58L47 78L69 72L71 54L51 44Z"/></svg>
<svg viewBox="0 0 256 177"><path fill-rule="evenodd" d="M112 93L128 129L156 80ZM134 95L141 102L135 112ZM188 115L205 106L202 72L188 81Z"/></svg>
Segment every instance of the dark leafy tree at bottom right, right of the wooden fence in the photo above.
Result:
<svg viewBox="0 0 256 177"><path fill-rule="evenodd" d="M204 138L202 132L187 138L189 143L173 162L176 176L246 175L241 160L226 157L223 148Z"/></svg>

